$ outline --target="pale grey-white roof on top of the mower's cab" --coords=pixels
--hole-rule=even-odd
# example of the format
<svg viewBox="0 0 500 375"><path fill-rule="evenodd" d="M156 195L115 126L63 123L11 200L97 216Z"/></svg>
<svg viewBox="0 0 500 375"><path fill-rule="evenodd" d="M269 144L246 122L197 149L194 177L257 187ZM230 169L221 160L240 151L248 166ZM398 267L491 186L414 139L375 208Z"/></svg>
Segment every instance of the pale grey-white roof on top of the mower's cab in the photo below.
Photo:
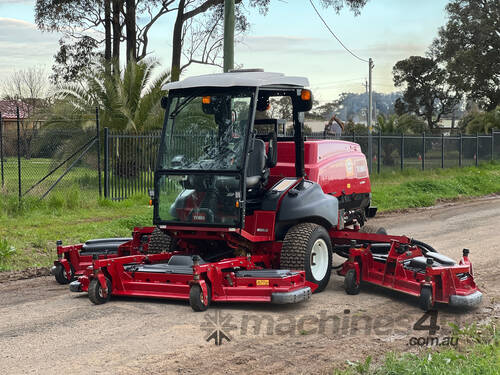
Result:
<svg viewBox="0 0 500 375"><path fill-rule="evenodd" d="M305 77L287 77L283 73L271 72L229 72L188 77L178 82L167 83L163 90L187 89L192 87L275 87L303 88L309 86Z"/></svg>

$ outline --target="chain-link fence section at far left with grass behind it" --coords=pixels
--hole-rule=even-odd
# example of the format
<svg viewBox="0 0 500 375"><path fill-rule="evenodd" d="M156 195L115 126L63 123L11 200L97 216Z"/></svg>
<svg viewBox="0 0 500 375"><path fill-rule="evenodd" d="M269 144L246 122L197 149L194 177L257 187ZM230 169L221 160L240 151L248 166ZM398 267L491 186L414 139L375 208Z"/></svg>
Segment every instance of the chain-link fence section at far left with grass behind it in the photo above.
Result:
<svg viewBox="0 0 500 375"><path fill-rule="evenodd" d="M19 119L0 122L1 193L4 197L48 198L56 206L99 197L99 140L96 125L34 127Z"/></svg>

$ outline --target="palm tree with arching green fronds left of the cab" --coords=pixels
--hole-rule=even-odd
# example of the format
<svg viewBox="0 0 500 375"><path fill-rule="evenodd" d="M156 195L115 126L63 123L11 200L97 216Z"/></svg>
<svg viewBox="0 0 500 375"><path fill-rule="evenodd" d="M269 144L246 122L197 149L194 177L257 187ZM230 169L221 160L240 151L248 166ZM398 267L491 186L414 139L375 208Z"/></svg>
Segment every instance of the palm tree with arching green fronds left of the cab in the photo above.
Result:
<svg viewBox="0 0 500 375"><path fill-rule="evenodd" d="M84 84L70 83L58 88L56 98L58 106L48 124L64 121L71 127L80 129L95 128L93 113L99 108L100 125L114 131L141 133L161 129L164 111L161 98L162 86L168 82L168 71L154 77L158 63L154 60L130 61L123 69L109 74L103 65L93 75L87 77ZM71 118L70 121L69 118ZM141 145L128 144L123 150L115 143L115 173L123 177L135 177L140 170L149 165L139 165L137 155ZM141 160L143 158L140 158Z"/></svg>

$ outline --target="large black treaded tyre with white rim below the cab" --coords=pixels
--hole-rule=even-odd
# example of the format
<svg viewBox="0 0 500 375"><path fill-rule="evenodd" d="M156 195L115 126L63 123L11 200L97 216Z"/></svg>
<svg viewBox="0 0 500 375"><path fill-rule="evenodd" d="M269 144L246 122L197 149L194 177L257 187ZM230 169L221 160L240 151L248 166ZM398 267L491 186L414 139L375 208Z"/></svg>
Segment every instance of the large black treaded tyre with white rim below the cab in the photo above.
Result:
<svg viewBox="0 0 500 375"><path fill-rule="evenodd" d="M304 270L306 280L323 291L332 273L332 244L325 228L318 224L301 223L290 228L281 248L281 269Z"/></svg>

